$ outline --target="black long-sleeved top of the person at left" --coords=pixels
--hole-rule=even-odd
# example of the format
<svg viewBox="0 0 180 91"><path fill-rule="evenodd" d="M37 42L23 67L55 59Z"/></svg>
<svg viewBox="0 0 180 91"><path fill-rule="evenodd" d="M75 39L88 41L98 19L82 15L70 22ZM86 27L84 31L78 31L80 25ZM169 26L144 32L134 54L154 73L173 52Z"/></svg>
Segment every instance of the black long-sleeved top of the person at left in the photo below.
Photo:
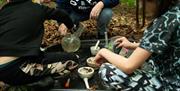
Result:
<svg viewBox="0 0 180 91"><path fill-rule="evenodd" d="M12 0L5 5L0 10L0 56L38 55L46 19L55 19L68 28L73 27L70 17L61 10L30 0Z"/></svg>

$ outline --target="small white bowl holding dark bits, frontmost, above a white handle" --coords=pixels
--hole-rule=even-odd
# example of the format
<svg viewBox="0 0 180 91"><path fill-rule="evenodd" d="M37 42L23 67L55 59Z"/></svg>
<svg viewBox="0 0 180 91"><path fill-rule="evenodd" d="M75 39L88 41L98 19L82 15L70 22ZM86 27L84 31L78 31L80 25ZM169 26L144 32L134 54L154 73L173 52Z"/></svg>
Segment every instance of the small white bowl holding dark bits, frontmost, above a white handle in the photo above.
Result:
<svg viewBox="0 0 180 91"><path fill-rule="evenodd" d="M94 74L94 69L92 67L81 67L78 69L79 76L81 78L91 78Z"/></svg>

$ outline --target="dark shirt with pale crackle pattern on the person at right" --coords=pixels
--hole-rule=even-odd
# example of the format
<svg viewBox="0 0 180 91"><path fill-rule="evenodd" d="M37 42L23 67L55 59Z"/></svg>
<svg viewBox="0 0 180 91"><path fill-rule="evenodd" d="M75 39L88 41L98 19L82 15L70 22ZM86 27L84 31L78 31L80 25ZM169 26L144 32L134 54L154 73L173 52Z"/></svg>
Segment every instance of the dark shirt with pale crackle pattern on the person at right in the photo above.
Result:
<svg viewBox="0 0 180 91"><path fill-rule="evenodd" d="M154 20L140 47L153 53L145 72L160 77L166 87L180 88L180 4Z"/></svg>

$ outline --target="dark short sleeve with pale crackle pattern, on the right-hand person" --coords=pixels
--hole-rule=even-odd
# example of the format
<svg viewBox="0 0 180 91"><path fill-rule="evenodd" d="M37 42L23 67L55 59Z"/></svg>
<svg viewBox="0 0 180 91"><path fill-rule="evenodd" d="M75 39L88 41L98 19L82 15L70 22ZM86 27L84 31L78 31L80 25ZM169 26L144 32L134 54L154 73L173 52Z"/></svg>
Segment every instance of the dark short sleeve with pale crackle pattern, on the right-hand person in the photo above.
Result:
<svg viewBox="0 0 180 91"><path fill-rule="evenodd" d="M162 54L167 50L173 34L178 30L179 16L169 10L155 19L145 30L140 47L152 53Z"/></svg>

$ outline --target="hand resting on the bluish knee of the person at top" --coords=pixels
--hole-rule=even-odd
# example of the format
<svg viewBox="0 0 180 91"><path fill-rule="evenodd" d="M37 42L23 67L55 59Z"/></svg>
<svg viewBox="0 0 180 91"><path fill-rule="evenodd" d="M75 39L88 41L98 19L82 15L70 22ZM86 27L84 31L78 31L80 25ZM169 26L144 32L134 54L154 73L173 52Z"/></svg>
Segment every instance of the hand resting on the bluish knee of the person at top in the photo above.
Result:
<svg viewBox="0 0 180 91"><path fill-rule="evenodd" d="M97 19L103 8L104 3L102 1L98 2L91 10L90 19Z"/></svg>

